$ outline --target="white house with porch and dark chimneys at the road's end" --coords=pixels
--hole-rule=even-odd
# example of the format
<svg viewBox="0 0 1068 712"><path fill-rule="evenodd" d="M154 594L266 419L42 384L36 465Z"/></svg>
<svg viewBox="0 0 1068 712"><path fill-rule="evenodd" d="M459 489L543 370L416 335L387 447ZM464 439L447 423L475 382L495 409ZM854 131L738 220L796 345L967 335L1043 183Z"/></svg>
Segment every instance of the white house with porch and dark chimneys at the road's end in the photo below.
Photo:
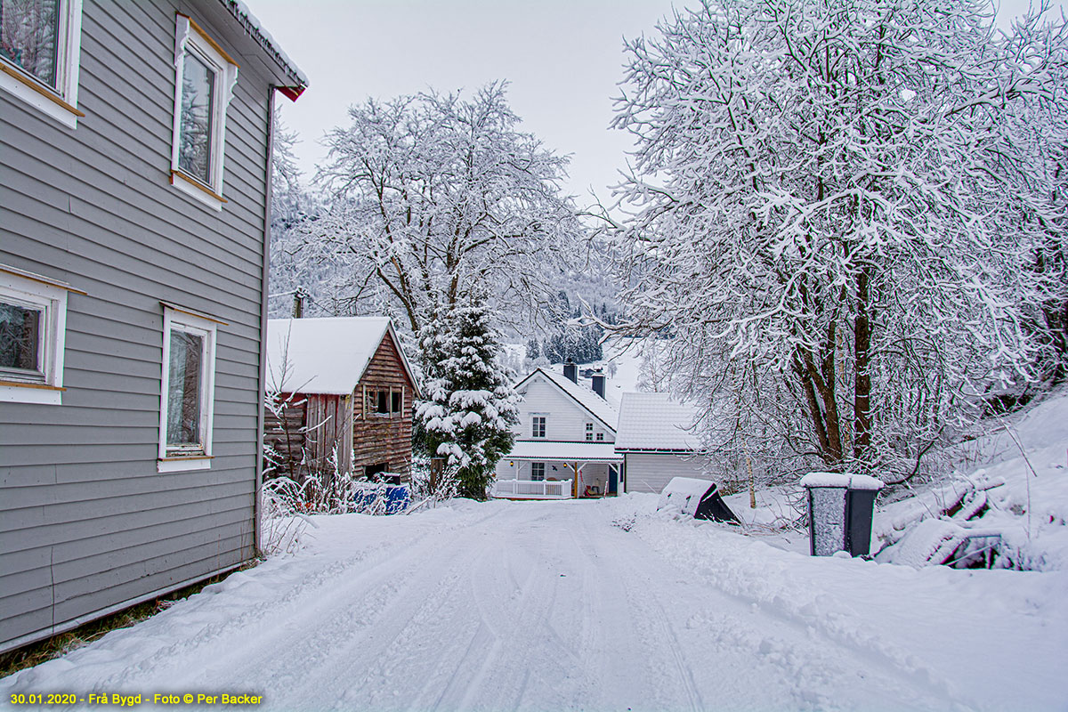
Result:
<svg viewBox="0 0 1068 712"><path fill-rule="evenodd" d="M512 453L497 465L493 496L567 499L615 494L623 456L615 452L618 412L603 397L604 377L592 391L565 375L538 368L516 384L522 395ZM599 394L600 395L599 395Z"/></svg>

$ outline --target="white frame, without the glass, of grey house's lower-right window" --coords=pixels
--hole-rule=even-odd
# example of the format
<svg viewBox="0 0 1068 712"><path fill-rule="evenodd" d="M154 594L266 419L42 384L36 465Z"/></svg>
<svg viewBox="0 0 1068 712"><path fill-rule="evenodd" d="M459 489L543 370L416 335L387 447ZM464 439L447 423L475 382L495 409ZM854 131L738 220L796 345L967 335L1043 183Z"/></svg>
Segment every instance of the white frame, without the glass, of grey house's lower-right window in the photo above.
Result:
<svg viewBox="0 0 1068 712"><path fill-rule="evenodd" d="M159 391L159 455L158 472L207 470L211 466L211 431L215 420L215 353L218 326L225 325L214 317L163 304L163 354L160 362ZM201 358L201 423L202 448L195 452L175 452L167 448L167 398L171 390L171 332L184 331L204 338Z"/></svg>

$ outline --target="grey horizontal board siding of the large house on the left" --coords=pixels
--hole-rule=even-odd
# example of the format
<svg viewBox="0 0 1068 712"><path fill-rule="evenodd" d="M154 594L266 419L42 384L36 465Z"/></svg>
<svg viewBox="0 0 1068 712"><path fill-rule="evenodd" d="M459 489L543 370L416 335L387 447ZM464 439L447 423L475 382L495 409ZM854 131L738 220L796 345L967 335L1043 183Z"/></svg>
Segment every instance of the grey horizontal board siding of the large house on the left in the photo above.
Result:
<svg viewBox="0 0 1068 712"><path fill-rule="evenodd" d="M69 282L62 406L0 404L0 649L254 555L268 79L242 62L222 212L170 185L175 13L85 0L69 130L0 93L0 263ZM156 472L162 310L219 327L210 470Z"/></svg>

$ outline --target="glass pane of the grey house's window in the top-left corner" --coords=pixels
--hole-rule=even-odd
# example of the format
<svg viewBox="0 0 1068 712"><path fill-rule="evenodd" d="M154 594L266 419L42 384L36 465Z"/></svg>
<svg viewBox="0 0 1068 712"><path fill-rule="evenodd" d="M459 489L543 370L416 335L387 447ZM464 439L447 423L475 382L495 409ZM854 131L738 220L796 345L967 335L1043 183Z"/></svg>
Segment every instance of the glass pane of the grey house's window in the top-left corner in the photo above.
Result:
<svg viewBox="0 0 1068 712"><path fill-rule="evenodd" d="M60 0L0 0L0 56L56 88Z"/></svg>

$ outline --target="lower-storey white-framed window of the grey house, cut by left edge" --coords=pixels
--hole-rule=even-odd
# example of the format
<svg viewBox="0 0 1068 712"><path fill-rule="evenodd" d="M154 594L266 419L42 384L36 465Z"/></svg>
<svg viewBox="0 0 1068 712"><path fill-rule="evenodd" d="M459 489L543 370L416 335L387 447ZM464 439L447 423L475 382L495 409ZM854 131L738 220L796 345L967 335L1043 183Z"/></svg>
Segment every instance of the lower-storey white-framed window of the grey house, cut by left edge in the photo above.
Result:
<svg viewBox="0 0 1068 712"><path fill-rule="evenodd" d="M0 402L60 405L69 291L0 265Z"/></svg>

